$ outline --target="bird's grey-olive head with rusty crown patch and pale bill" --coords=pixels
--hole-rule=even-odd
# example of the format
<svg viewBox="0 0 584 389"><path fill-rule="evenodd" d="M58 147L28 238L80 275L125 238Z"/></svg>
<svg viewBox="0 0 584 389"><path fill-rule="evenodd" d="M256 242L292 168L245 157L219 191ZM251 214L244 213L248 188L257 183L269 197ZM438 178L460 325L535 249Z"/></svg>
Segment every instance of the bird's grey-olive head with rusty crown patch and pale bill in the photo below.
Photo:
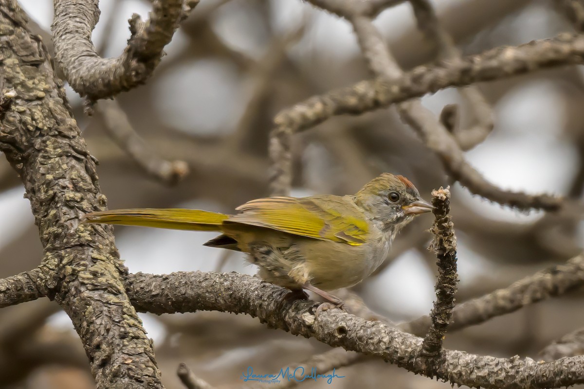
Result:
<svg viewBox="0 0 584 389"><path fill-rule="evenodd" d="M415 186L403 176L383 173L365 184L355 195L355 202L371 218L384 223L385 229L397 233L420 213L434 208L420 198Z"/></svg>

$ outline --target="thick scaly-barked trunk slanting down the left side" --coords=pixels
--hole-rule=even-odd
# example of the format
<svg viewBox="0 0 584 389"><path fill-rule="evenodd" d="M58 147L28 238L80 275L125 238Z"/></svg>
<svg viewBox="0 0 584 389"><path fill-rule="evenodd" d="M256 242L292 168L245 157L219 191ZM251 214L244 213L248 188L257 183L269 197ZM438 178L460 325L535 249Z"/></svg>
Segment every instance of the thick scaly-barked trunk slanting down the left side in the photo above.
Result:
<svg viewBox="0 0 584 389"><path fill-rule="evenodd" d="M127 269L112 229L78 226L85 212L104 209L106 198L62 82L26 19L15 0L0 2L0 74L16 93L0 122L0 150L18 171L39 227L37 283L71 318L98 388L161 388L151 340L121 281Z"/></svg>

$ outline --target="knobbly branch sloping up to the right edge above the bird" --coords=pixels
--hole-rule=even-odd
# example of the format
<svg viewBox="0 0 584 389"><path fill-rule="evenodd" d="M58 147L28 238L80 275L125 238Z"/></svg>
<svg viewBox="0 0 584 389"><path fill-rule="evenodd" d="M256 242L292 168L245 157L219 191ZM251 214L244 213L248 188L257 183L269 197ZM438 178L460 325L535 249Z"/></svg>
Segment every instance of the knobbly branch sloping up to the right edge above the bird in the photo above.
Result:
<svg viewBox="0 0 584 389"><path fill-rule="evenodd" d="M379 77L313 96L281 111L276 124L303 131L335 115L359 115L451 86L584 63L584 36L560 34L515 47L496 47L456 64L422 65L397 79Z"/></svg>

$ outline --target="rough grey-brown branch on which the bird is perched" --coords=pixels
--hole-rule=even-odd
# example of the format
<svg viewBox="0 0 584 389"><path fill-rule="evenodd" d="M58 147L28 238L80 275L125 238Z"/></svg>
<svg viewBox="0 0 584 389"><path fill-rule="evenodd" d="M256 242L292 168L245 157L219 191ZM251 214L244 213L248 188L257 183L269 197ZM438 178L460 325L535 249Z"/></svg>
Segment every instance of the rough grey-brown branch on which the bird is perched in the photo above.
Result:
<svg viewBox="0 0 584 389"><path fill-rule="evenodd" d="M416 356L422 351L422 339L338 309L324 311L316 319L314 303L287 302L287 289L252 276L210 272L137 273L128 275L126 290L139 311L246 313L258 317L270 328L378 356L411 372L425 374L415 364ZM225 293L226 290L229 292ZM584 383L584 356L538 363L530 358L494 358L443 349L436 366L439 379L471 387L538 389Z"/></svg>

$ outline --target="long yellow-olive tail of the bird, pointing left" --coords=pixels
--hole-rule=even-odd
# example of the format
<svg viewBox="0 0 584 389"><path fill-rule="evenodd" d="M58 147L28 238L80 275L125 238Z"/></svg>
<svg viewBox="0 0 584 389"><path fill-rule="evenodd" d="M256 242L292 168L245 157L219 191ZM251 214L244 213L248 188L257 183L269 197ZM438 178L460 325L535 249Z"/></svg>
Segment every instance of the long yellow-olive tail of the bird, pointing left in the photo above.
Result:
<svg viewBox="0 0 584 389"><path fill-rule="evenodd" d="M199 209L117 209L85 214L84 223L121 224L173 230L221 231L229 218L223 213Z"/></svg>

